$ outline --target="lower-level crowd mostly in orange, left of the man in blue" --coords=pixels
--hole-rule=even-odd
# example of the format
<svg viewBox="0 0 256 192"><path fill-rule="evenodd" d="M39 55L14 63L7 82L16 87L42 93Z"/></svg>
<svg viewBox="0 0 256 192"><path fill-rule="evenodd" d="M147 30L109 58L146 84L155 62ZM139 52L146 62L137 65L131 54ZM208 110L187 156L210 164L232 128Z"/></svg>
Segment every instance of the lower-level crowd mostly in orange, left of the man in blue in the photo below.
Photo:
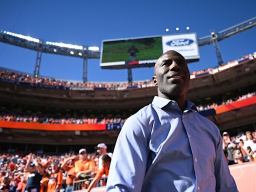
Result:
<svg viewBox="0 0 256 192"><path fill-rule="evenodd" d="M104 143L95 148L89 154L85 148L63 155L0 153L0 191L69 192L73 181L83 178L86 181L77 182L76 189L87 188L93 177L99 181L101 176L107 176L108 173L100 171L108 170L111 161ZM96 182L89 187L95 185ZM99 181L97 186L100 185L105 185L105 180Z"/></svg>

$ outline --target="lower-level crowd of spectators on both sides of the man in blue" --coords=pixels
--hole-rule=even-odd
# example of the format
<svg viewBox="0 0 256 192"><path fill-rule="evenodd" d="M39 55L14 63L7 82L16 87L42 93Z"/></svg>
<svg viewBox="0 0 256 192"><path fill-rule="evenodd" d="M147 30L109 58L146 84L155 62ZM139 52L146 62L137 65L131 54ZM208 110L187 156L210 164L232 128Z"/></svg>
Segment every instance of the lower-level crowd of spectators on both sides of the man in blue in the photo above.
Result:
<svg viewBox="0 0 256 192"><path fill-rule="evenodd" d="M104 143L95 148L93 153L81 148L77 154L60 155L0 153L0 191L69 192L73 187L90 190L95 185L105 185L111 153L107 153ZM232 137L223 132L222 148L229 165L254 161L256 132L246 131ZM74 181L78 185L73 185Z"/></svg>

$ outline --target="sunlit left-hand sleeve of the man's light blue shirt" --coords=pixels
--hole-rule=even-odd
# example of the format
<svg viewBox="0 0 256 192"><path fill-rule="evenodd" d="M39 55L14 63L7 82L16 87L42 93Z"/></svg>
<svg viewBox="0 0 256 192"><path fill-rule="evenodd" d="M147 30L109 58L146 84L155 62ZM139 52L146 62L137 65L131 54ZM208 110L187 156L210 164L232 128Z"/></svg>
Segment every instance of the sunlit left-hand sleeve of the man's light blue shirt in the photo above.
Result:
<svg viewBox="0 0 256 192"><path fill-rule="evenodd" d="M130 116L123 124L115 144L106 191L141 191L150 133L144 124L138 115Z"/></svg>

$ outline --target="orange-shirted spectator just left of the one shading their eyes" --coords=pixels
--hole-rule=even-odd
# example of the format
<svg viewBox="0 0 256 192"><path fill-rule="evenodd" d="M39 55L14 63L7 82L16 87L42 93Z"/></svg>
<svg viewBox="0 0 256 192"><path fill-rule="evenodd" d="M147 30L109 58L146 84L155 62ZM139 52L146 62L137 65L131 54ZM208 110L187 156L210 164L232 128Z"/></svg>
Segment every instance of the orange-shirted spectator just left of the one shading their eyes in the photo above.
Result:
<svg viewBox="0 0 256 192"><path fill-rule="evenodd" d="M59 191L62 186L62 181L62 172L58 168L58 163L54 162L51 164L51 174L47 185L47 192Z"/></svg>

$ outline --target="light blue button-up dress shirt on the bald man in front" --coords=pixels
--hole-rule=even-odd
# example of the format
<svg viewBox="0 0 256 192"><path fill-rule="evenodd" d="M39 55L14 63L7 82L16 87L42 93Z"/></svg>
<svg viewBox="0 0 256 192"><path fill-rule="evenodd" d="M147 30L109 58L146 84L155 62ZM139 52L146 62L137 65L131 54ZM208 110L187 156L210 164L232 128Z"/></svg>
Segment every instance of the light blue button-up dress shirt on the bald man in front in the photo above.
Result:
<svg viewBox="0 0 256 192"><path fill-rule="evenodd" d="M216 125L186 101L155 96L117 138L106 191L237 191Z"/></svg>

